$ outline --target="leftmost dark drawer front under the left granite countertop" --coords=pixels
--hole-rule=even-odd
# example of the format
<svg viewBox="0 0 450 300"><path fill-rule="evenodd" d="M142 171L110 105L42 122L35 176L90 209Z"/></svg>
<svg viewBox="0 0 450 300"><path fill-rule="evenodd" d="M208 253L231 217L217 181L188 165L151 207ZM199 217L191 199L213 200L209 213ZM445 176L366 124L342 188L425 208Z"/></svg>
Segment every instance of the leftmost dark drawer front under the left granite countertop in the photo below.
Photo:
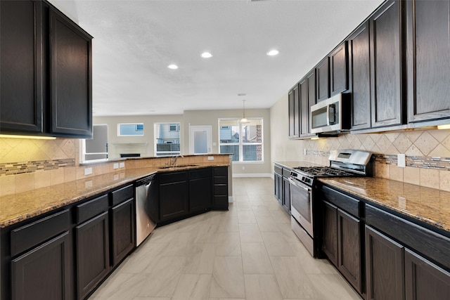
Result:
<svg viewBox="0 0 450 300"><path fill-rule="evenodd" d="M51 237L69 230L69 210L60 211L44 219L27 224L11 231L11 256L49 240Z"/></svg>

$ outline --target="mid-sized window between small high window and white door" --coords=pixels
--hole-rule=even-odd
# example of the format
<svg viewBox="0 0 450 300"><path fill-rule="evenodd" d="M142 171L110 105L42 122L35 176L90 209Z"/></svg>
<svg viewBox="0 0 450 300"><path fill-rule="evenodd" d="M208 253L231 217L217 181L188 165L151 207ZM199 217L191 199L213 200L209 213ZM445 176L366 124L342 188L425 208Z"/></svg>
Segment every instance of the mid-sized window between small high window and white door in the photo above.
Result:
<svg viewBox="0 0 450 300"><path fill-rule="evenodd" d="M179 155L180 124L155 123L155 156Z"/></svg>

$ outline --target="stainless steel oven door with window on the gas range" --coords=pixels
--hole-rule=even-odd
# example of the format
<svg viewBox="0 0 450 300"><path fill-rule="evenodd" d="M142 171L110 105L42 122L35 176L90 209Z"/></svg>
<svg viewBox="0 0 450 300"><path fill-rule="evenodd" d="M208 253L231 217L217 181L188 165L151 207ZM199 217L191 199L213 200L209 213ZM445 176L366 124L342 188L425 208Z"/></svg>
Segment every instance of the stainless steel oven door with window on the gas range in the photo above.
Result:
<svg viewBox="0 0 450 300"><path fill-rule="evenodd" d="M300 183L296 179L289 178L290 181L290 213L293 218L314 237L312 228L312 188Z"/></svg>

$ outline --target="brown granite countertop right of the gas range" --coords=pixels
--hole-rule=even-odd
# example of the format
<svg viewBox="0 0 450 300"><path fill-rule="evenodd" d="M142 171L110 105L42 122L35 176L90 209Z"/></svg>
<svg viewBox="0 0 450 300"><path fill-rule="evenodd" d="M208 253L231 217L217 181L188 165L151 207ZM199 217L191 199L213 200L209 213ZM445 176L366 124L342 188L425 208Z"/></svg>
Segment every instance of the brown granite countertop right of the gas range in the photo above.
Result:
<svg viewBox="0 0 450 300"><path fill-rule="evenodd" d="M319 181L450 233L450 192L375 177Z"/></svg>

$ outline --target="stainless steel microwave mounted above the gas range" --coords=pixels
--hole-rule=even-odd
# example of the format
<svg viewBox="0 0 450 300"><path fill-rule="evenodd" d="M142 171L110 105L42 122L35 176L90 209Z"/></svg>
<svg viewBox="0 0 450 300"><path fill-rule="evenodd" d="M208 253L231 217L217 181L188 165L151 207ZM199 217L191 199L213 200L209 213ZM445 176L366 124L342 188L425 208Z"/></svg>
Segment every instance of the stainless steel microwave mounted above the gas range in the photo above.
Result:
<svg viewBox="0 0 450 300"><path fill-rule="evenodd" d="M311 133L340 132L350 129L350 95L338 93L311 106Z"/></svg>

